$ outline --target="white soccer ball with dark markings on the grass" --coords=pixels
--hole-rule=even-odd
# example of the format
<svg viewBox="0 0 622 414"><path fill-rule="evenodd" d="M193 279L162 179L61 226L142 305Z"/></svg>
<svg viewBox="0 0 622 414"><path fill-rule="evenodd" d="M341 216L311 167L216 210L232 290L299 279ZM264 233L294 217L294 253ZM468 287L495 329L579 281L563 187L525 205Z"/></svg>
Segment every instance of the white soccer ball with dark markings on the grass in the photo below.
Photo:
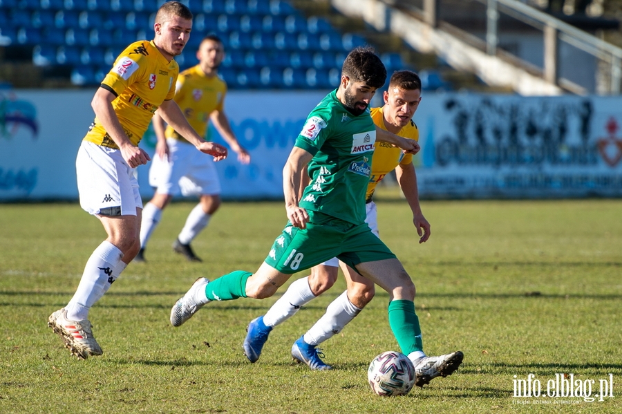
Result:
<svg viewBox="0 0 622 414"><path fill-rule="evenodd" d="M406 355L386 351L374 358L367 370L372 391L382 397L406 395L415 385L415 367Z"/></svg>

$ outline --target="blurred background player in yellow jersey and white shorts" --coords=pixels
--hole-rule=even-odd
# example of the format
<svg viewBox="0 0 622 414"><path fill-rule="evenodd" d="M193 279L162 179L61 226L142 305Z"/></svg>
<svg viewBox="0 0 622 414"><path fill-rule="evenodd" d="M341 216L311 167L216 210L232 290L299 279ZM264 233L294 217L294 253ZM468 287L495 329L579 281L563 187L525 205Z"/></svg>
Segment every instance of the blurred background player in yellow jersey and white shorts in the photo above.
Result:
<svg viewBox="0 0 622 414"><path fill-rule="evenodd" d="M218 76L218 66L225 57L223 42L215 35L208 35L201 41L196 56L199 64L180 73L174 100L199 135L205 135L207 122L211 120L229 147L238 153L238 160L248 164L249 153L238 143L224 111L227 84ZM184 196L198 195L200 202L190 212L173 249L189 261L200 261L190 242L207 227L220 207L218 172L214 162L197 154L170 125L164 130L164 120L158 114L153 116L153 127L158 144L149 169L149 183L156 187L156 194L142 211L140 251L134 261L144 261L144 249L151 232L160 223L162 210L180 192Z"/></svg>

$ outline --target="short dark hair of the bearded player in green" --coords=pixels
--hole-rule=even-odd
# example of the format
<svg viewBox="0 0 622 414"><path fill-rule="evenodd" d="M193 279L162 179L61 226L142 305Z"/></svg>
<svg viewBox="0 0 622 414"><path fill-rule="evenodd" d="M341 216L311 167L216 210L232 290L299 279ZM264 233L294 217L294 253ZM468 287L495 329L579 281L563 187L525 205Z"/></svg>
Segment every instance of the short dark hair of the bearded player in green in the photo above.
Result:
<svg viewBox="0 0 622 414"><path fill-rule="evenodd" d="M386 82L386 68L371 46L352 49L341 66L341 75L352 82L364 82L373 88L381 88Z"/></svg>

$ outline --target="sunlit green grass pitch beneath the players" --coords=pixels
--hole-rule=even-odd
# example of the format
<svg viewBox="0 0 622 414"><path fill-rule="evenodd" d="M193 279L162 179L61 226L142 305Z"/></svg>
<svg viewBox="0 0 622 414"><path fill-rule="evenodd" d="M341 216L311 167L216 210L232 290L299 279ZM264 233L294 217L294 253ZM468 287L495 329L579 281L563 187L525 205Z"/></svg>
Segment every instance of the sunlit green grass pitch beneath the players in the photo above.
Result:
<svg viewBox="0 0 622 414"><path fill-rule="evenodd" d="M245 327L285 287L172 328L171 305L194 279L256 270L285 224L281 203L225 203L194 242L204 263L188 263L171 242L191 207L164 212L148 263L93 307L104 355L79 361L46 319L73 295L102 226L75 204L0 205L0 413L622 412L622 200L424 202L432 236L419 245L406 203L381 198L381 237L417 285L426 352L465 355L454 375L395 398L366 380L375 355L397 350L385 292L323 344L330 372L292 364L290 348L342 280L276 328L256 364L241 352ZM545 392L556 373L594 379L593 394L612 373L614 397L513 397L513 376L529 373Z"/></svg>

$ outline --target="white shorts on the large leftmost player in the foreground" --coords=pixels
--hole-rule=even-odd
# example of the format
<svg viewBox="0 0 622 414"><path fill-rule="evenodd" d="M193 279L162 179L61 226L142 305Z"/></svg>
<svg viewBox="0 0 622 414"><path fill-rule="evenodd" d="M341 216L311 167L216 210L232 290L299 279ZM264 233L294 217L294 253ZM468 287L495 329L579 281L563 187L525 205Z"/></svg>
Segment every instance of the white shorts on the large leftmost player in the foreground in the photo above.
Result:
<svg viewBox="0 0 622 414"><path fill-rule="evenodd" d="M88 214L136 216L136 209L142 209L136 170L120 150L82 141L75 171L80 206Z"/></svg>

